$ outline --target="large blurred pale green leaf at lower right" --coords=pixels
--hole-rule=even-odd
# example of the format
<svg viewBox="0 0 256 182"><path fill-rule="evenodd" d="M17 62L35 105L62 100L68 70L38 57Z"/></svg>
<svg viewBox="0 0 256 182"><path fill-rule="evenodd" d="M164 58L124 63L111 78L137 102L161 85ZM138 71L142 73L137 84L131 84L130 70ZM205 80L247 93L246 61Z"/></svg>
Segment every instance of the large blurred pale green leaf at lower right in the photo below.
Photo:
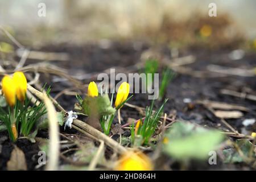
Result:
<svg viewBox="0 0 256 182"><path fill-rule="evenodd" d="M224 135L217 130L207 130L203 127L177 121L167 131L167 143L163 151L177 160L208 158L210 151L215 150Z"/></svg>

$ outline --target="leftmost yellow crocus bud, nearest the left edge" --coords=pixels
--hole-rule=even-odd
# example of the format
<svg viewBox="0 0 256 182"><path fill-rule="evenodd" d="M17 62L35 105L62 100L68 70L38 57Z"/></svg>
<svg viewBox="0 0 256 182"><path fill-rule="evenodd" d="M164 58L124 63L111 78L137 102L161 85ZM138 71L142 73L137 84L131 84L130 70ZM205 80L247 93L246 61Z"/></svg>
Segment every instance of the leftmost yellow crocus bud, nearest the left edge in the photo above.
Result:
<svg viewBox="0 0 256 182"><path fill-rule="evenodd" d="M8 75L4 76L2 79L2 91L7 104L13 107L16 102L16 85L13 78Z"/></svg>

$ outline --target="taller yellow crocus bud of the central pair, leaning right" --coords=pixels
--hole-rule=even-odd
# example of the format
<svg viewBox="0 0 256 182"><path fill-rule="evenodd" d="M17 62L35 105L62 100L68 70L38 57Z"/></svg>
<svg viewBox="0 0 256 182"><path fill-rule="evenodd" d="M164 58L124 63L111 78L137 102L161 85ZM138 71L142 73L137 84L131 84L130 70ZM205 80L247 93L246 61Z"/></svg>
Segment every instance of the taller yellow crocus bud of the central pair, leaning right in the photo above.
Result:
<svg viewBox="0 0 256 182"><path fill-rule="evenodd" d="M115 108L121 105L128 97L130 85L127 82L122 82L117 91L117 98L115 98Z"/></svg>

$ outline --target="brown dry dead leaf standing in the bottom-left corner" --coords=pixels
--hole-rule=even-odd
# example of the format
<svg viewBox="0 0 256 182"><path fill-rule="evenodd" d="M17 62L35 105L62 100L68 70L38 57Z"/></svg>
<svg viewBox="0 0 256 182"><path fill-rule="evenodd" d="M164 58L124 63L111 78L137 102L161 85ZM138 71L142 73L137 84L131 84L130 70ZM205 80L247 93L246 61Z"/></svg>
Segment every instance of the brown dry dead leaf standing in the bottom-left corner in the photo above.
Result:
<svg viewBox="0 0 256 182"><path fill-rule="evenodd" d="M27 171L26 158L22 150L14 146L13 151L11 152L11 158L7 162L8 171Z"/></svg>

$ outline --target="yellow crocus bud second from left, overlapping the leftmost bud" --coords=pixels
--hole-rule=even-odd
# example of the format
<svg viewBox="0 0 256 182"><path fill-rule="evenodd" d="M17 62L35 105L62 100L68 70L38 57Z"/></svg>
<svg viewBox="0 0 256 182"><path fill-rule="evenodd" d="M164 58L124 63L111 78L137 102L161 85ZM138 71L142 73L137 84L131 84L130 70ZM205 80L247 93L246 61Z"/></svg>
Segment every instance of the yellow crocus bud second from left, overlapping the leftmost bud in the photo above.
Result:
<svg viewBox="0 0 256 182"><path fill-rule="evenodd" d="M16 95L20 102L23 102L27 93L27 79L23 72L15 72L13 80L16 84Z"/></svg>

